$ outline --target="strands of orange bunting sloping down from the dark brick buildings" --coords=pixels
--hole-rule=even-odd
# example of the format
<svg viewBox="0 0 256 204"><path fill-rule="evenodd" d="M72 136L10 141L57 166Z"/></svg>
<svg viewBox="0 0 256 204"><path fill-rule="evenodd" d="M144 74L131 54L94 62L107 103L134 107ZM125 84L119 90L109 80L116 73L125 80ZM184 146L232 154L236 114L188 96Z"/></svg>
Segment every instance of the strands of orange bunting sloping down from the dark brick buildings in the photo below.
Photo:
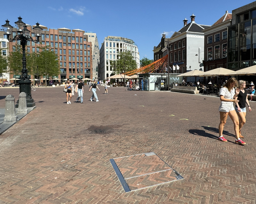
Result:
<svg viewBox="0 0 256 204"><path fill-rule="evenodd" d="M159 60L156 60L155 62L152 62L151 64L148 64L144 67L141 67L139 69L134 69L132 71L125 72L125 75L132 76L135 74L144 74L144 73L154 73L157 69L159 70L158 73L164 73L165 72L165 67L167 67L167 59L168 55L165 55Z"/></svg>

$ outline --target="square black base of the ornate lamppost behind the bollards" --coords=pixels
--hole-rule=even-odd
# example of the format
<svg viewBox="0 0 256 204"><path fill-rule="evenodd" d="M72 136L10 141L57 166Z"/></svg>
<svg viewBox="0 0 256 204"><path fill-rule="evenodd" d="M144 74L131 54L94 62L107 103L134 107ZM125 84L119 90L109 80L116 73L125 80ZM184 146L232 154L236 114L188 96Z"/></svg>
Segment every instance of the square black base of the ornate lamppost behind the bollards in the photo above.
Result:
<svg viewBox="0 0 256 204"><path fill-rule="evenodd" d="M20 93L21 92L26 93L27 107L35 108L36 103L34 102L34 99L31 96L31 82L28 80L21 80L18 83L20 84ZM19 100L17 100L17 104L15 104L15 108L18 108L18 107L19 107Z"/></svg>

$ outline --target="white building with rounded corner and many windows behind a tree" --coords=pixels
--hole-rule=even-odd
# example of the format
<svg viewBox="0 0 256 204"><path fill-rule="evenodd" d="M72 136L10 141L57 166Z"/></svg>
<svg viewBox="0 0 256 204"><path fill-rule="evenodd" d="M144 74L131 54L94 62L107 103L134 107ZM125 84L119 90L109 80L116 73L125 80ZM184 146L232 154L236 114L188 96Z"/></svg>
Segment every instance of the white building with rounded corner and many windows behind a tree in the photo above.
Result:
<svg viewBox="0 0 256 204"><path fill-rule="evenodd" d="M110 77L113 72L110 67L110 61L117 60L117 53L124 51L130 51L132 53L133 59L137 62L137 67L140 68L140 54L138 46L133 40L116 36L105 37L100 48L100 80Z"/></svg>

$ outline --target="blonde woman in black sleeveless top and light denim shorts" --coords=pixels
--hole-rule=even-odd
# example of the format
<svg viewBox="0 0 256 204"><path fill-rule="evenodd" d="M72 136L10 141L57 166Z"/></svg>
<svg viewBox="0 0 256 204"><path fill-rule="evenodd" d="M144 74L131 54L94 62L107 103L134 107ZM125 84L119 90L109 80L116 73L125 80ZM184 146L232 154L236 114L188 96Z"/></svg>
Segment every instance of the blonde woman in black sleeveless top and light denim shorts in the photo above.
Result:
<svg viewBox="0 0 256 204"><path fill-rule="evenodd" d="M244 80L239 80L238 81L238 87L240 89L239 94L235 99L239 100L238 103L236 103L236 113L239 117L239 137L244 138L244 136L241 135L241 129L243 128L245 124L245 115L246 115L246 107L245 105L248 105L249 111L251 111L251 106L249 104L248 98L246 91L244 90L246 87L246 82Z"/></svg>

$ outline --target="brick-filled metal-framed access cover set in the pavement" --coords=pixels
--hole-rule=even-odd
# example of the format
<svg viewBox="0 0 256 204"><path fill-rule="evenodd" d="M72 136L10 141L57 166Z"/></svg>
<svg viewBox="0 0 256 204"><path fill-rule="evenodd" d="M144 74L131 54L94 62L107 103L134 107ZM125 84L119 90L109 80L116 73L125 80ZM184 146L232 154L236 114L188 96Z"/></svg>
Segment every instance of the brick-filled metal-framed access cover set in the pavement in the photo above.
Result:
<svg viewBox="0 0 256 204"><path fill-rule="evenodd" d="M183 179L154 152L118 157L110 162L125 192Z"/></svg>

